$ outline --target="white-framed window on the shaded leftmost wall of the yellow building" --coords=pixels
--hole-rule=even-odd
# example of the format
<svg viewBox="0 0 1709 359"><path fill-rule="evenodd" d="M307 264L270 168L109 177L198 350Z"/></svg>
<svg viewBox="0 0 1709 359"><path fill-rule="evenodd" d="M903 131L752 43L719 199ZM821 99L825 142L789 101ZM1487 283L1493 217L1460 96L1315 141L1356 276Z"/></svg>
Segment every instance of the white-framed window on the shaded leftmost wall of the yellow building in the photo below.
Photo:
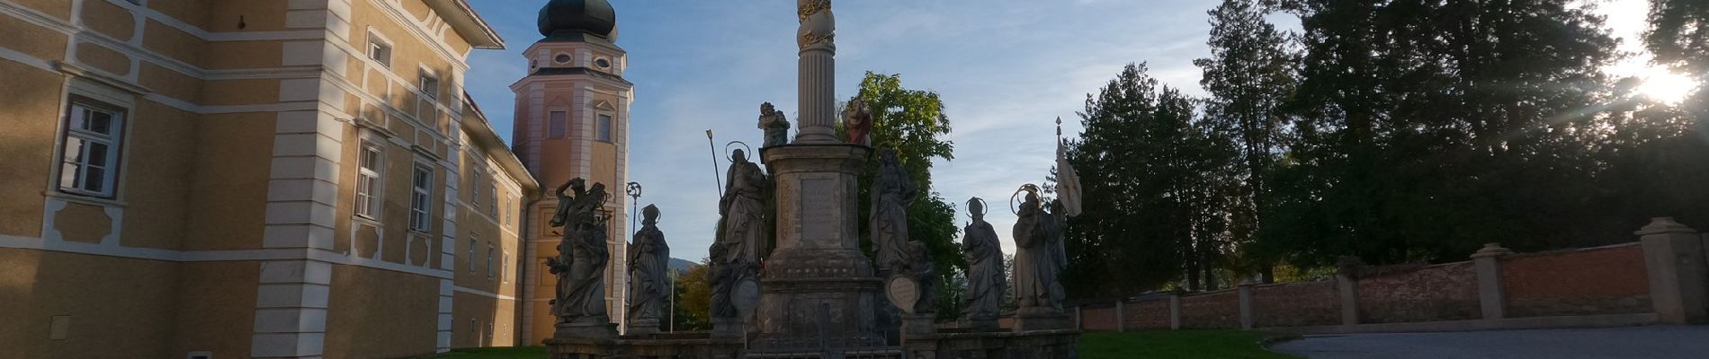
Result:
<svg viewBox="0 0 1709 359"><path fill-rule="evenodd" d="M72 97L65 114L65 148L60 148L60 191L113 197L123 129L125 112Z"/></svg>

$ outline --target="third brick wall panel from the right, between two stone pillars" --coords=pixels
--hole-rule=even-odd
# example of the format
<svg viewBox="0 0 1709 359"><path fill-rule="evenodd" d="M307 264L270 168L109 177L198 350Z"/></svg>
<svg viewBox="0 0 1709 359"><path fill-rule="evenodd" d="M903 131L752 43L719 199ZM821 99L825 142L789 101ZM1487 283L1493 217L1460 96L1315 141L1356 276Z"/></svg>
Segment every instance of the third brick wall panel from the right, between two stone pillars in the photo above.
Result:
<svg viewBox="0 0 1709 359"><path fill-rule="evenodd" d="M1342 296L1333 281L1253 286L1253 327L1342 323Z"/></svg>

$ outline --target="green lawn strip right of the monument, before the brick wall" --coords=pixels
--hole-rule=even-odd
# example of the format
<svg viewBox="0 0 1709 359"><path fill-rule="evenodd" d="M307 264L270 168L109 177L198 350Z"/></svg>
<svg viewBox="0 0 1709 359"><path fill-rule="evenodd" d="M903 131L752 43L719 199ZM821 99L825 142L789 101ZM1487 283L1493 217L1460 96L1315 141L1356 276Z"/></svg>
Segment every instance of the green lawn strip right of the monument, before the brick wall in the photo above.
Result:
<svg viewBox="0 0 1709 359"><path fill-rule="evenodd" d="M1299 359L1265 350L1263 340L1277 335L1246 330L1143 330L1090 332L1080 337L1085 359L1220 357Z"/></svg>

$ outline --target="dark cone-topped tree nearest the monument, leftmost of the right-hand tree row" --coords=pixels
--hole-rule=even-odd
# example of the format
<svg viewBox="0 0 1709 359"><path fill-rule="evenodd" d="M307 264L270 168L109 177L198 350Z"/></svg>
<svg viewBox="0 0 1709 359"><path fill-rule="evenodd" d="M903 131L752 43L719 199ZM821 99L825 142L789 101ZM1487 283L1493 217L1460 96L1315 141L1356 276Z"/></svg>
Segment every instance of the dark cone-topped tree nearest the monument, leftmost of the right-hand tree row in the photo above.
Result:
<svg viewBox="0 0 1709 359"><path fill-rule="evenodd" d="M1085 99L1085 131L1066 148L1087 197L1084 214L1068 219L1068 269L1063 286L1075 298L1126 296L1213 262L1215 226L1205 208L1203 158L1208 141L1195 128L1193 100L1128 65Z"/></svg>

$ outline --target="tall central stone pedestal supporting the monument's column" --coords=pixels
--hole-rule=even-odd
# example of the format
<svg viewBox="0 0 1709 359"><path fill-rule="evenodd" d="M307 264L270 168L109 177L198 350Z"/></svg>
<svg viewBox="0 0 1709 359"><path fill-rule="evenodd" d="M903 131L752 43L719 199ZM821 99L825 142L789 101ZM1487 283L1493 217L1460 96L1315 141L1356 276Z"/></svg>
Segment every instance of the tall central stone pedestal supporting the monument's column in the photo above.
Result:
<svg viewBox="0 0 1709 359"><path fill-rule="evenodd" d="M860 252L860 168L872 148L796 143L761 150L776 177L778 247L761 274L757 308L767 347L882 347L873 308L882 281Z"/></svg>

